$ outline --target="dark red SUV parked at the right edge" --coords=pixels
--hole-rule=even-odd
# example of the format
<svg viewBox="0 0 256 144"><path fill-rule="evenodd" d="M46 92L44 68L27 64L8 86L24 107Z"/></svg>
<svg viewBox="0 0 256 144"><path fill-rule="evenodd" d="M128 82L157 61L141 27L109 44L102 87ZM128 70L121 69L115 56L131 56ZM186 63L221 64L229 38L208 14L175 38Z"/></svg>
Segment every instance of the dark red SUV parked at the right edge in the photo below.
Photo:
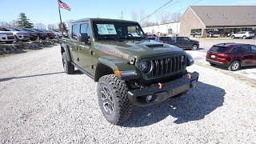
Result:
<svg viewBox="0 0 256 144"><path fill-rule="evenodd" d="M239 70L242 66L256 66L256 46L238 43L214 45L206 54L210 65L226 66L228 70Z"/></svg>

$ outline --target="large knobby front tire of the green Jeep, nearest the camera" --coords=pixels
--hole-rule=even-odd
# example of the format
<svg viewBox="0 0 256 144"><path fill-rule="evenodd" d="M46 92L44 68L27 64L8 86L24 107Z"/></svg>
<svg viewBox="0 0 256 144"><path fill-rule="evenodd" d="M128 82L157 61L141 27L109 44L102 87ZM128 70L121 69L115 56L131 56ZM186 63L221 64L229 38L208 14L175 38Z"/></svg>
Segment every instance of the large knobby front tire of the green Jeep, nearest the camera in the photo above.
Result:
<svg viewBox="0 0 256 144"><path fill-rule="evenodd" d="M112 114L106 111L106 107L103 106L104 90L108 89L110 93ZM103 90L103 91L102 91ZM114 74L109 74L99 78L97 95L98 95L98 105L102 110L102 114L106 120L114 125L120 125L123 122L126 122L132 116L132 105L128 99L129 88L126 85L125 81L118 79ZM102 95L103 94L103 95ZM105 103L106 106L106 103Z"/></svg>

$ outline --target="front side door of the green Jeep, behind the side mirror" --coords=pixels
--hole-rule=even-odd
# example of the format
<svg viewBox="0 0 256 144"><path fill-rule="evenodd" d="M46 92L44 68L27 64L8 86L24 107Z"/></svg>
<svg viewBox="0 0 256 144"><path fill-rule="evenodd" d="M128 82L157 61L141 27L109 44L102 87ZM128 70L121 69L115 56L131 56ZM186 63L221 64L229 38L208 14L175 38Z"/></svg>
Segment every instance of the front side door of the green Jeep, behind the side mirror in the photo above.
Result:
<svg viewBox="0 0 256 144"><path fill-rule="evenodd" d="M78 41L78 58L80 59L80 67L83 70L86 70L90 74L93 73L92 66L92 50L90 47L90 26L88 22L81 22L79 24L79 37L82 34L87 34L88 42L79 42Z"/></svg>

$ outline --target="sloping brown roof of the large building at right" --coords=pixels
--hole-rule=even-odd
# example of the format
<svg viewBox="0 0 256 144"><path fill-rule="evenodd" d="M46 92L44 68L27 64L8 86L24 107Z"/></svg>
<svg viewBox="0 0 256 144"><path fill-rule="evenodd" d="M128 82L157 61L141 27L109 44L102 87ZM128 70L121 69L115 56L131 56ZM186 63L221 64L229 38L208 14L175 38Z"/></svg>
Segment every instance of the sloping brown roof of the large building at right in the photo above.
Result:
<svg viewBox="0 0 256 144"><path fill-rule="evenodd" d="M256 6L190 6L207 26L256 26Z"/></svg>

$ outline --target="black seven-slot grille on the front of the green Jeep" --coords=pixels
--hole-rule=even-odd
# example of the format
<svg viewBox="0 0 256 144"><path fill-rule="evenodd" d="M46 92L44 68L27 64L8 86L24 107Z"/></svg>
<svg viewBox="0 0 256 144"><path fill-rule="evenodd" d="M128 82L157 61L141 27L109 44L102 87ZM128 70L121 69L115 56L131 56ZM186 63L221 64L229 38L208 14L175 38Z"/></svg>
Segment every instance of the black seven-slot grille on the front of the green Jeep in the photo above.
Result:
<svg viewBox="0 0 256 144"><path fill-rule="evenodd" d="M184 62L182 62L182 57ZM151 71L150 74L152 77L159 76L161 74L170 74L186 69L185 55L178 55L170 58L158 58L150 61Z"/></svg>

